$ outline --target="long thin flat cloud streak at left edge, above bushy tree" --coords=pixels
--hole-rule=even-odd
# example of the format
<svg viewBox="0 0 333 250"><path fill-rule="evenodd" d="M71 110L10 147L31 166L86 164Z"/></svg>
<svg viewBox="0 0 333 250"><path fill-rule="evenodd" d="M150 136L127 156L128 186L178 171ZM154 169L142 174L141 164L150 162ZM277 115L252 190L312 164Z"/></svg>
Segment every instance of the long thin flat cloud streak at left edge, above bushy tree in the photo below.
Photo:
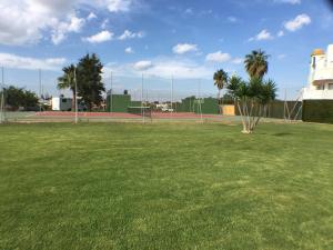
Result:
<svg viewBox="0 0 333 250"><path fill-rule="evenodd" d="M28 70L59 70L65 63L64 58L37 59L20 57L11 53L0 53L0 64L6 68L28 69Z"/></svg>

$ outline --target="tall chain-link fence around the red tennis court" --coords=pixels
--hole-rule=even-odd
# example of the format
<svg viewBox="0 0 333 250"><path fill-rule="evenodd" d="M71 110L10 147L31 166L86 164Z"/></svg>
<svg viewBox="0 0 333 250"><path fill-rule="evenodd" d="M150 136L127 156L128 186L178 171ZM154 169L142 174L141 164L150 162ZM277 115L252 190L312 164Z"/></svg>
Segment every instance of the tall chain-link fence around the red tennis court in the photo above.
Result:
<svg viewBox="0 0 333 250"><path fill-rule="evenodd" d="M73 106L75 99L72 92L57 88L61 71L4 69L1 76L2 88L26 88L34 91L39 98L36 107L13 107L1 91L1 122L240 120L233 100L225 96L225 90L219 93L211 79L105 72L103 101L89 111L80 97L77 106ZM301 119L300 90L280 89L278 99L269 106L266 118ZM78 107L77 112L73 107Z"/></svg>

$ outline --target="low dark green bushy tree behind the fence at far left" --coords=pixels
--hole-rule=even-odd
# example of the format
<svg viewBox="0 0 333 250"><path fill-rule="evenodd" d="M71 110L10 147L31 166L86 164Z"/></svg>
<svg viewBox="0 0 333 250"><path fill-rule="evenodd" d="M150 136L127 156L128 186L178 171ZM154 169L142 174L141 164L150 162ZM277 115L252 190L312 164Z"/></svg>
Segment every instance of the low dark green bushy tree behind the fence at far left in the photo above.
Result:
<svg viewBox="0 0 333 250"><path fill-rule="evenodd" d="M3 89L3 97L6 104L10 106L12 109L18 109L20 107L23 107L24 109L38 107L37 94L23 88L9 86Z"/></svg>

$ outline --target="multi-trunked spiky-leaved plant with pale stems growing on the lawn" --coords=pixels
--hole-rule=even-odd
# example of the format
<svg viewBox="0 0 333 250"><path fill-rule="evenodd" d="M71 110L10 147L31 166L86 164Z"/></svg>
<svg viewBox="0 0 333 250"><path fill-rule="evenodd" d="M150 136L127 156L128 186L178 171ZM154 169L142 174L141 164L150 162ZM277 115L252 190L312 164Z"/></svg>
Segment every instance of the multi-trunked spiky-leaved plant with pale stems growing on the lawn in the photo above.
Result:
<svg viewBox="0 0 333 250"><path fill-rule="evenodd" d="M266 113L268 104L276 97L276 86L273 80L251 78L249 82L233 76L228 84L228 92L234 98L239 109L243 133L252 133L261 118Z"/></svg>

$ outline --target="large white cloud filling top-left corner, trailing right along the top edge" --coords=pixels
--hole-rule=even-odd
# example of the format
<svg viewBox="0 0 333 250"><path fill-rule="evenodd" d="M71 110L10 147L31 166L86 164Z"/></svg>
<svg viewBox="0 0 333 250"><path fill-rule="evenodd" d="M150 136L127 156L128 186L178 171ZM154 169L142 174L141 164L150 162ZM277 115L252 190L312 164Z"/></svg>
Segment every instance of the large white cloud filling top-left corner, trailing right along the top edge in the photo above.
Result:
<svg viewBox="0 0 333 250"><path fill-rule="evenodd" d="M81 7L108 9L110 12L128 12L139 0L1 0L0 44L27 46L41 39L54 43L63 41L68 33L79 32L83 19L75 12ZM75 17L75 19L72 19ZM93 19L93 13L87 20ZM79 31L78 31L79 30Z"/></svg>

